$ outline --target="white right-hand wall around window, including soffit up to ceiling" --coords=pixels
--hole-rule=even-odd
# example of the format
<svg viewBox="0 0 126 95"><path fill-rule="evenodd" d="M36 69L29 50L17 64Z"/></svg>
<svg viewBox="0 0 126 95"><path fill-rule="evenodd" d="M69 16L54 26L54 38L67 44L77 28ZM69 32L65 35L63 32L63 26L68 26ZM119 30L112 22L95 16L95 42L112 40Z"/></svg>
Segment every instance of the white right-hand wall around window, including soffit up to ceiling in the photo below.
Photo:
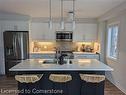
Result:
<svg viewBox="0 0 126 95"><path fill-rule="evenodd" d="M126 2L120 4L119 6L111 9L99 19L99 24L102 22L106 22L106 24L111 24L115 22L119 22L119 42L118 42L118 59L111 60L108 59L105 55L105 63L114 69L112 72L106 72L106 77L109 79L115 86L117 86L120 90L126 93ZM102 28L102 24L99 26L99 30L102 34L107 34L104 28ZM107 37L99 37L100 40L105 40L100 42L101 44L107 45ZM101 48L102 49L102 48ZM105 48L103 48L105 50ZM102 50L102 51L103 51ZM106 51L106 50L105 50Z"/></svg>

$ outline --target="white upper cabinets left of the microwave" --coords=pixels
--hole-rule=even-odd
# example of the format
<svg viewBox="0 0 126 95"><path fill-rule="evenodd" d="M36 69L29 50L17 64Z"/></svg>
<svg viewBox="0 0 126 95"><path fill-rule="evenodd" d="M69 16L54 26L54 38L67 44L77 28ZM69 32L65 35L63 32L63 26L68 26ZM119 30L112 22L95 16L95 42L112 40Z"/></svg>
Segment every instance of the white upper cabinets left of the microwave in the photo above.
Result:
<svg viewBox="0 0 126 95"><path fill-rule="evenodd" d="M54 41L55 40L55 25L49 30L48 23L34 22L30 25L30 37L32 40L44 40Z"/></svg>

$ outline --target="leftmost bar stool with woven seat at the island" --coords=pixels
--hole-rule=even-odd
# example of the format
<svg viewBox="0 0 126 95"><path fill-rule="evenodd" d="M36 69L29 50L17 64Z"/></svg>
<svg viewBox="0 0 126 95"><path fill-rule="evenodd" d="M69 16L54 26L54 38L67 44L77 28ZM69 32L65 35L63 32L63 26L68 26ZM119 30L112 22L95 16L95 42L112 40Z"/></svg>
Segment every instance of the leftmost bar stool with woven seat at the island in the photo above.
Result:
<svg viewBox="0 0 126 95"><path fill-rule="evenodd" d="M16 75L15 79L18 81L18 90L22 91L18 95L34 95L32 90L40 89L39 81L41 80L42 76L43 74Z"/></svg>

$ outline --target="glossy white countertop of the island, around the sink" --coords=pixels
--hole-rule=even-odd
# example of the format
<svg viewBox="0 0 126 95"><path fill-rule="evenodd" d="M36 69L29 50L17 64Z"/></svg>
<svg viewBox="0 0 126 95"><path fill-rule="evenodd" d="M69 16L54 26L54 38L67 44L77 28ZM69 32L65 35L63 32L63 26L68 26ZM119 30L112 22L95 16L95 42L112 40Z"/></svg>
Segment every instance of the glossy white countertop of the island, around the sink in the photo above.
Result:
<svg viewBox="0 0 126 95"><path fill-rule="evenodd" d="M96 59L72 59L72 64L63 65L43 64L44 60L46 59L23 60L9 71L113 71L111 67Z"/></svg>

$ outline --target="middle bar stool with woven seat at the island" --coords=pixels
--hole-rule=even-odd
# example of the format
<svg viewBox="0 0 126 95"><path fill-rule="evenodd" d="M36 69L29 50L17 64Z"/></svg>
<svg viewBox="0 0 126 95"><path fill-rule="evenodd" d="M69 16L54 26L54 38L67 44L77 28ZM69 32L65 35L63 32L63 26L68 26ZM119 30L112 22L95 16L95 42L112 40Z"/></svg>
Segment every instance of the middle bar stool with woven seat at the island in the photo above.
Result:
<svg viewBox="0 0 126 95"><path fill-rule="evenodd" d="M52 95L69 95L69 82L72 76L69 74L51 74L49 80L53 82L52 89L57 90Z"/></svg>

